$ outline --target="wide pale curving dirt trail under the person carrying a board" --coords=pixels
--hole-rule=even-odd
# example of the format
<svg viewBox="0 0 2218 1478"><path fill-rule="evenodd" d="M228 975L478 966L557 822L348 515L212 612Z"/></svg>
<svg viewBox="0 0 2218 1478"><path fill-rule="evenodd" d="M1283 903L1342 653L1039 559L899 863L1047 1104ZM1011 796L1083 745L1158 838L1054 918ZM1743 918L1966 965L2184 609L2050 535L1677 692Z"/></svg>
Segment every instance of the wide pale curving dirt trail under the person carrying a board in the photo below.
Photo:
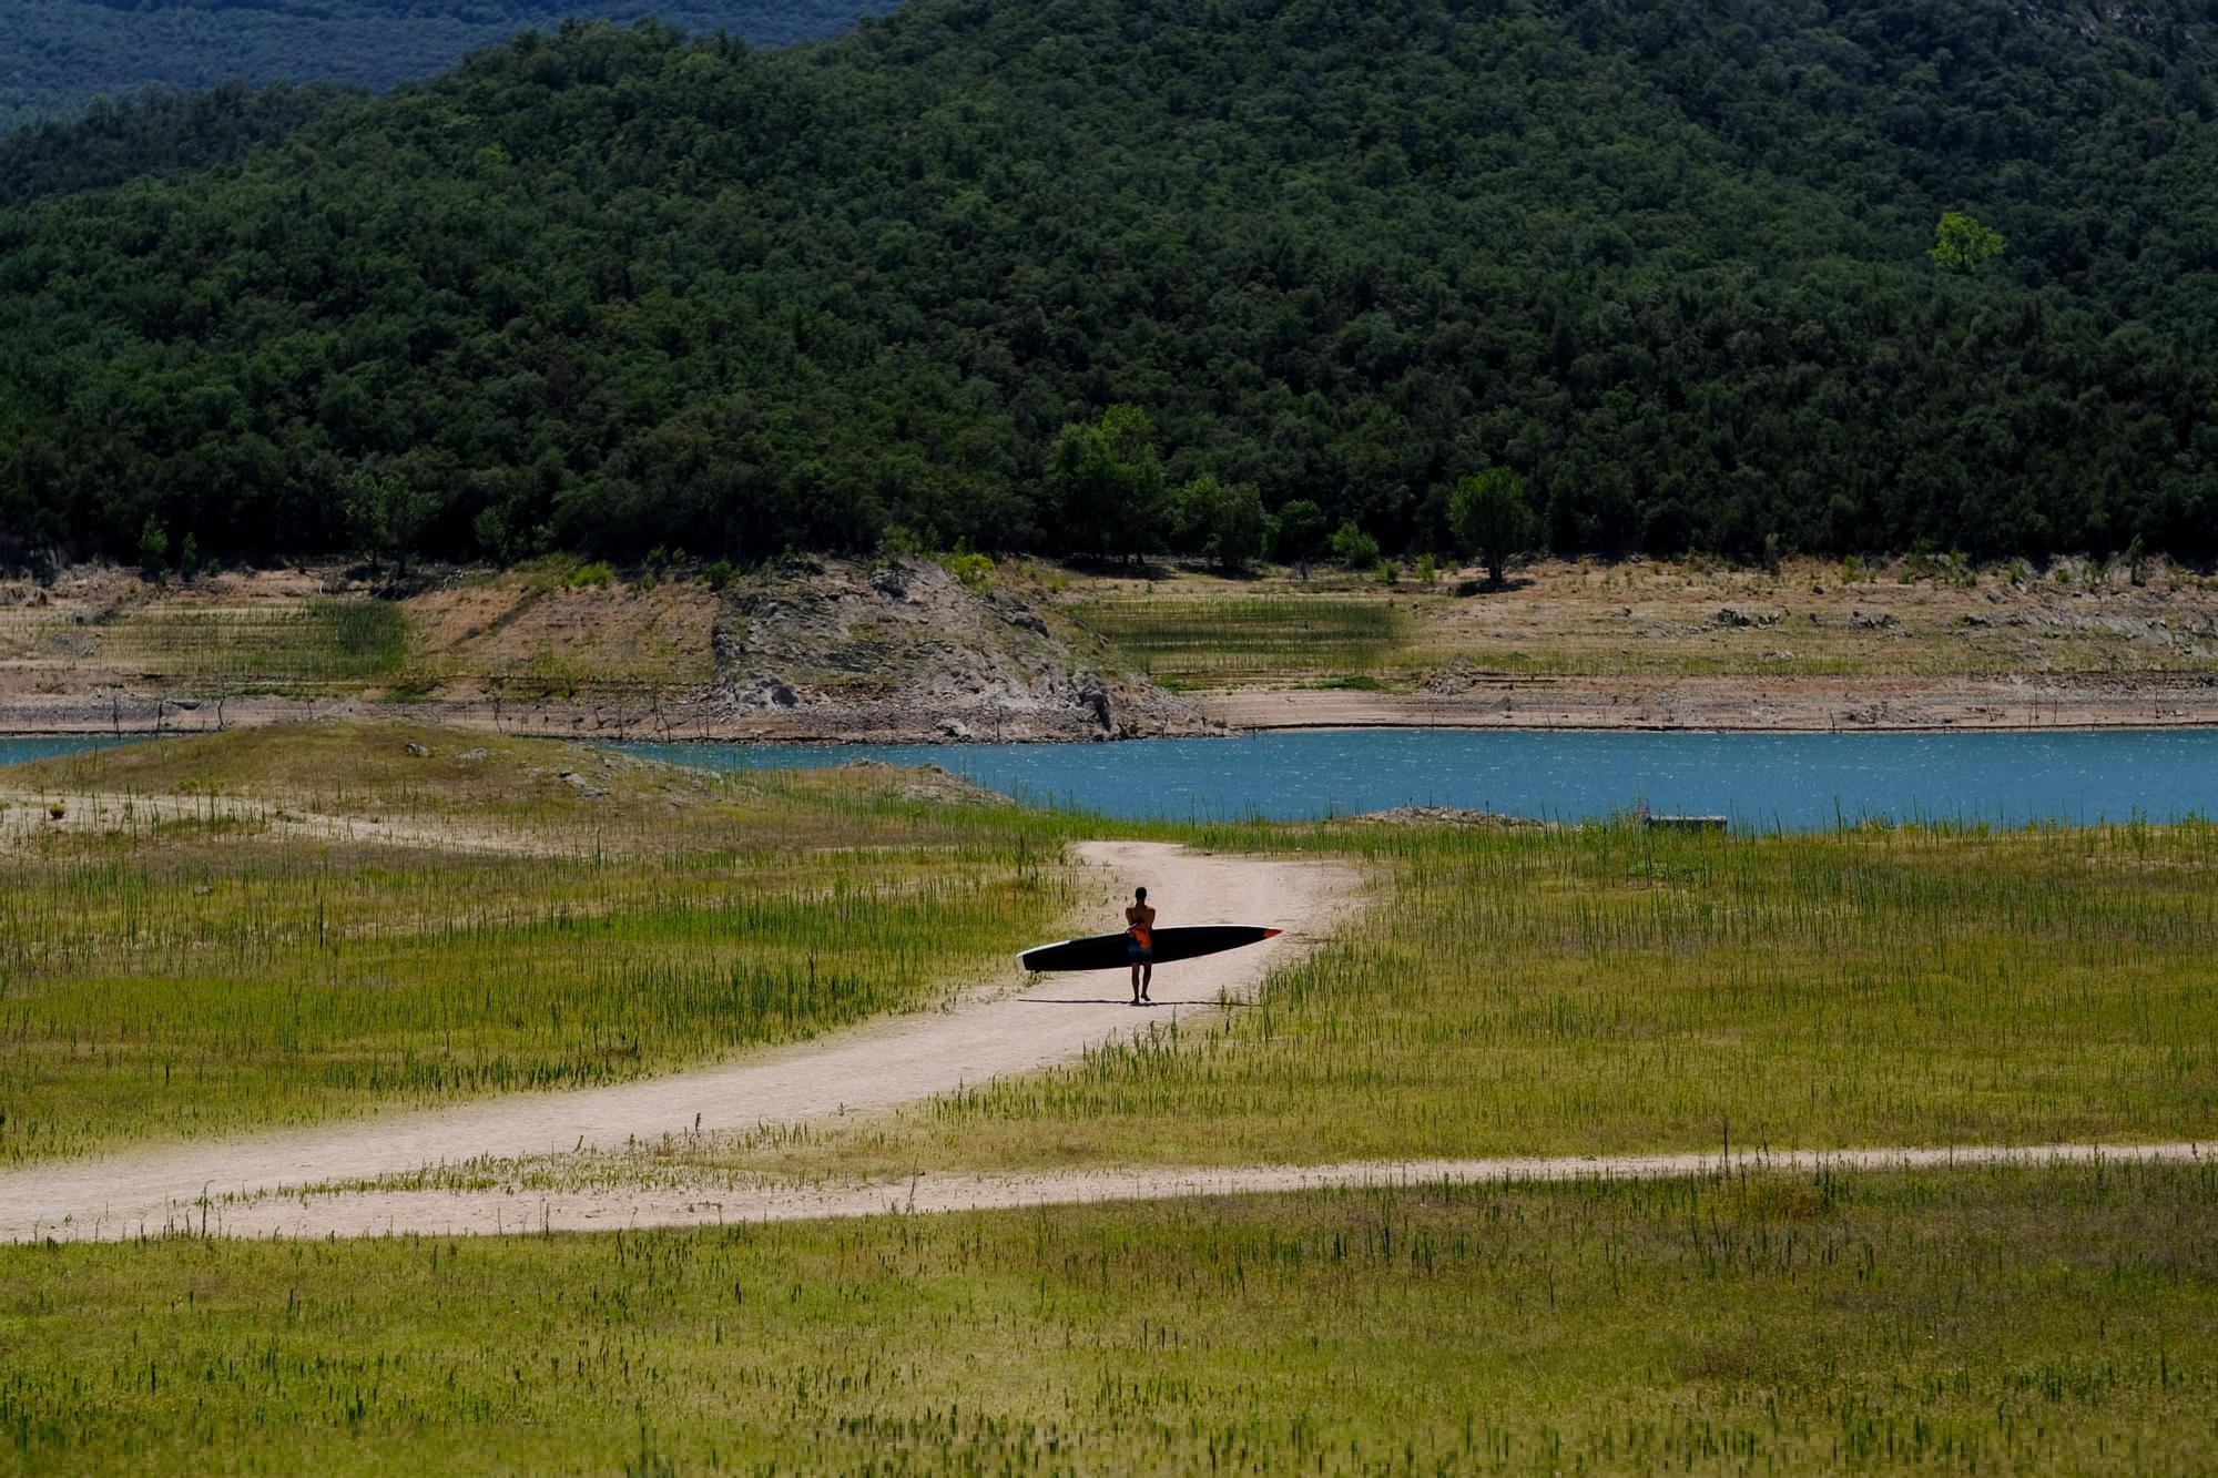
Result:
<svg viewBox="0 0 2218 1478"><path fill-rule="evenodd" d="M621 1150L688 1132L745 1132L765 1123L892 1107L1029 1072L1149 1023L1211 1012L1220 992L1229 999L1253 994L1264 972L1311 948L1309 925L1329 917L1331 905L1357 885L1355 874L1337 865L1209 857L1162 843L1098 841L1080 846L1078 854L1102 868L1116 888L1144 881L1164 923L1269 923L1286 932L1231 954L1164 965L1156 972L1160 1005L1153 1010L1129 1005L1122 972L1047 976L1025 985L1011 965L1007 976L943 1012L898 1016L643 1083L517 1094L335 1127L16 1170L0 1174L0 1241L115 1238L186 1223L200 1227L204 1212L195 1207L220 1196L368 1181L484 1156L528 1158ZM1107 917L1116 919L1113 912ZM433 1232L455 1225L446 1201L364 1196L357 1205L346 1196L315 1205L330 1207L319 1229ZM384 1212L364 1221L370 1203ZM355 1209L339 1212L342 1205ZM215 1221L206 1225L213 1229ZM226 1229L231 1225L224 1223ZM242 1223L237 1229L248 1227ZM297 1223L295 1229L306 1232L308 1225Z"/></svg>

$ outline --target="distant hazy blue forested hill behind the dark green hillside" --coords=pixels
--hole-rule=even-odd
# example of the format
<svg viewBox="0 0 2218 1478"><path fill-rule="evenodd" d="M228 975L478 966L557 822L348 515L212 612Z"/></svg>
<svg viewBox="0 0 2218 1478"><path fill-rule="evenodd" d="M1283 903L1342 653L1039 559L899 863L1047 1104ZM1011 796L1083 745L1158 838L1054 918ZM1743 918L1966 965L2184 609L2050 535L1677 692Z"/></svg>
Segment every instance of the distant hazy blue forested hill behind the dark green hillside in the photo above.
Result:
<svg viewBox="0 0 2218 1478"><path fill-rule="evenodd" d="M342 82L384 91L475 47L572 18L659 16L681 31L759 44L823 40L865 0L7 0L0 4L0 133L75 118L149 87Z"/></svg>

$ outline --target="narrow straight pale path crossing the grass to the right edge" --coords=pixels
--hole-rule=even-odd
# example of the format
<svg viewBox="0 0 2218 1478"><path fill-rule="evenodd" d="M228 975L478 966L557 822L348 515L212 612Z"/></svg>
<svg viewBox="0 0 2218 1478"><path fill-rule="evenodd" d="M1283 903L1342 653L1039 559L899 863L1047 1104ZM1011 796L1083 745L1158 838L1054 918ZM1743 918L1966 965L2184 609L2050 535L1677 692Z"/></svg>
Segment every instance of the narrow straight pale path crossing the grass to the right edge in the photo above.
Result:
<svg viewBox="0 0 2218 1478"><path fill-rule="evenodd" d="M1253 1196L1382 1185L1535 1185L1595 1178L1688 1178L1737 1172L1936 1170L2056 1163L2207 1163L2218 1145L1952 1145L1825 1152L1612 1154L1495 1161L1353 1161L1340 1165L1247 1165L1238 1170L1082 1170L1027 1176L934 1174L838 1187L708 1192L375 1192L264 1196L244 1203L173 1205L146 1232L195 1236L475 1236L503 1232L614 1232L761 1221L980 1212L1100 1201ZM131 1236L138 1227L71 1223L58 1241ZM16 1232L20 1238L22 1234Z"/></svg>

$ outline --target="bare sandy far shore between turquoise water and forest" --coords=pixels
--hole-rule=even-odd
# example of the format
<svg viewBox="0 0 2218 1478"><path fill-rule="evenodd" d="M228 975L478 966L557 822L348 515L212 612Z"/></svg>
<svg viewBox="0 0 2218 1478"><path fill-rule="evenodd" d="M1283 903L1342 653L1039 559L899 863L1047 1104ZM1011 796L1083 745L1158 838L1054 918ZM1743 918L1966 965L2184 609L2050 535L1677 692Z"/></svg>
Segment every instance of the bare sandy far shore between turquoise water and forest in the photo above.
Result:
<svg viewBox="0 0 2218 1478"><path fill-rule="evenodd" d="M976 628L963 619L983 619L983 606L943 601L940 610L920 588L889 597L885 610L838 615L830 608L845 608L834 597L852 595L856 581L827 566L814 581L790 581L794 599L776 601L781 626L736 615L745 604L739 593L716 597L685 581L548 588L523 575L450 573L406 601L406 703L381 701L390 695L364 681L304 681L284 670L248 677L195 626L233 621L233 639L255 630L266 639L268 621L319 595L364 595L337 570L231 573L160 590L113 568L71 570L53 588L0 579L0 732L193 732L328 715L406 715L572 739L787 741L1091 739L1224 723L2218 726L2218 577L2165 561L2140 570L2087 559L1965 570L1896 559L1850 577L1848 566L1817 559L1770 573L1710 561L1542 559L1519 566L1506 588L1459 570L1391 590L1333 570L1227 579L1147 566L1144 577L1062 570L1049 586L1018 573L1007 579L1009 590L994 597L1014 601L1007 619ZM1071 652L1027 666L1009 652L989 661L991 652L971 650L987 628L1018 646L1036 641L1018 595L1058 619L1105 601L1326 597L1388 606L1400 635L1353 666L1331 652L1311 666L1298 650L1258 670L1180 672L1167 659L1156 675L1191 688L1184 697L1193 708L1180 699L1178 715L1151 717L1116 679L1082 703L1091 712L1098 697L1107 721L1071 730L1040 719L1045 699L1069 717L1074 692L1040 684L1054 688L1049 679L1076 661ZM765 681L772 670L803 688L830 684L818 699L854 686L869 701L765 701L776 692ZM1384 690L1315 688L1351 677ZM220 692L231 697L217 701Z"/></svg>

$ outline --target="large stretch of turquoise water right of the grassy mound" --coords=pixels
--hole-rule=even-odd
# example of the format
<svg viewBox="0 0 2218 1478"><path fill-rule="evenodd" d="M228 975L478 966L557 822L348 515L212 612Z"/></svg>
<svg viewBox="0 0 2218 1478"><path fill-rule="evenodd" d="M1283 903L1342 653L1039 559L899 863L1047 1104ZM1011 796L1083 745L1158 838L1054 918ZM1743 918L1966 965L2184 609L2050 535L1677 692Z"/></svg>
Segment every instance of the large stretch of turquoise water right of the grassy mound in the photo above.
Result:
<svg viewBox="0 0 2218 1478"><path fill-rule="evenodd" d="M1278 821L1459 806L1517 817L2171 821L2218 814L2218 732L1657 735L1322 730L1253 739L978 746L628 746L721 770L936 763L1025 801L1111 817Z"/></svg>

